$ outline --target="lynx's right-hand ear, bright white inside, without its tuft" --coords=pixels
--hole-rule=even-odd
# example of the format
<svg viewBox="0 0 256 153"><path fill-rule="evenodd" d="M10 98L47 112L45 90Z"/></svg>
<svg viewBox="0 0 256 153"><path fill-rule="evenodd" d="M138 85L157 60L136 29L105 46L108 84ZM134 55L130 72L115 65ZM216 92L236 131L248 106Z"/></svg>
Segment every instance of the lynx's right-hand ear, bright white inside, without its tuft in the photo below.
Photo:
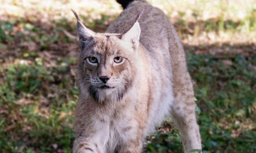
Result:
<svg viewBox="0 0 256 153"><path fill-rule="evenodd" d="M140 44L140 24L138 21L134 23L134 25L122 35L122 40L125 42L129 42L132 45L134 50L137 50Z"/></svg>

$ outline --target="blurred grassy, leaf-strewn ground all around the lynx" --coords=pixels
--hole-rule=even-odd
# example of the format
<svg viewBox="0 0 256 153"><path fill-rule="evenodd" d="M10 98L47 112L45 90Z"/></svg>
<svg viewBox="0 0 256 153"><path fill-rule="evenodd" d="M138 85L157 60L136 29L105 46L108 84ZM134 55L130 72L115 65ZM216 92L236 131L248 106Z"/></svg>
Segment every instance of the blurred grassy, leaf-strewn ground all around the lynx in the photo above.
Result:
<svg viewBox="0 0 256 153"><path fill-rule="evenodd" d="M203 153L256 152L256 1L147 0L183 39ZM0 152L69 153L79 55L75 9L103 32L115 0L0 0ZM182 152L167 118L145 152Z"/></svg>

